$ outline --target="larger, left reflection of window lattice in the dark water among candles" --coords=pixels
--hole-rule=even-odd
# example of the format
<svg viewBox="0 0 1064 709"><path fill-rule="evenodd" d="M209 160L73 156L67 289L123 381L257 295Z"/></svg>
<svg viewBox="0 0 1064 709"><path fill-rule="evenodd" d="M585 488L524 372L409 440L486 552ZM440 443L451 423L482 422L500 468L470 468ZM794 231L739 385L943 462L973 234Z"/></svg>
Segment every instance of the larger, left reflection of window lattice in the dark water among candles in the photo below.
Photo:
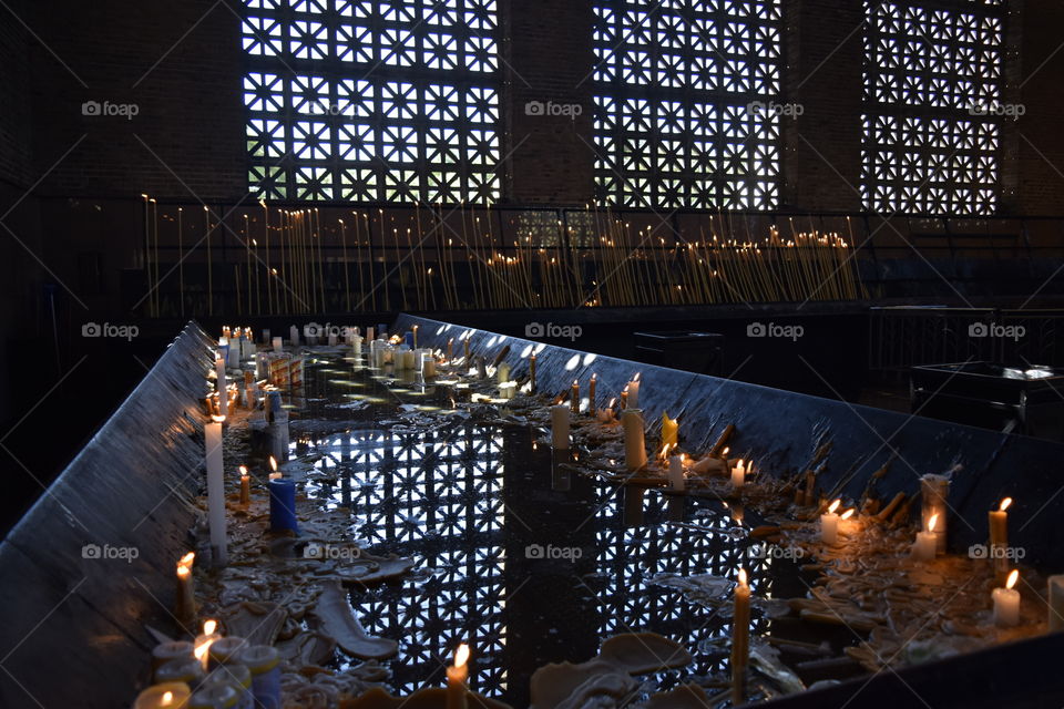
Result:
<svg viewBox="0 0 1064 709"><path fill-rule="evenodd" d="M405 638L391 666L396 690L408 695L441 675L467 641L483 658L475 689L504 692L502 439L365 431L317 450L325 454L320 470L341 469L334 500L351 510L369 551L416 556L433 569L424 582L352 594L367 630Z"/></svg>

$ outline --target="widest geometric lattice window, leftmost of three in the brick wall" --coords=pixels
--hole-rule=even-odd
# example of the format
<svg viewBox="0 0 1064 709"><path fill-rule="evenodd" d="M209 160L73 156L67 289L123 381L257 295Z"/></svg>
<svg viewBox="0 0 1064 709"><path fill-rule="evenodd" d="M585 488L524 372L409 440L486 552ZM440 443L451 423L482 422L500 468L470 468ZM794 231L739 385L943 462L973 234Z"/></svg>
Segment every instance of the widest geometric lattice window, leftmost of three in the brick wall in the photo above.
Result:
<svg viewBox="0 0 1064 709"><path fill-rule="evenodd" d="M244 0L266 198L494 201L495 0Z"/></svg>

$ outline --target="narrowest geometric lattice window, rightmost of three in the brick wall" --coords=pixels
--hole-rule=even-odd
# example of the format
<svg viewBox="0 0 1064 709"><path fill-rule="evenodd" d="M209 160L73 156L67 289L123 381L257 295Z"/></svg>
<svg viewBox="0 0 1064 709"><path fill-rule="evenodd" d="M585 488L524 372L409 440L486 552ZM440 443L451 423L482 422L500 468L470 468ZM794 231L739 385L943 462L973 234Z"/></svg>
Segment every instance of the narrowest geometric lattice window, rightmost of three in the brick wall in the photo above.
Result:
<svg viewBox="0 0 1064 709"><path fill-rule="evenodd" d="M862 197L880 213L992 214L1004 0L866 2Z"/></svg>

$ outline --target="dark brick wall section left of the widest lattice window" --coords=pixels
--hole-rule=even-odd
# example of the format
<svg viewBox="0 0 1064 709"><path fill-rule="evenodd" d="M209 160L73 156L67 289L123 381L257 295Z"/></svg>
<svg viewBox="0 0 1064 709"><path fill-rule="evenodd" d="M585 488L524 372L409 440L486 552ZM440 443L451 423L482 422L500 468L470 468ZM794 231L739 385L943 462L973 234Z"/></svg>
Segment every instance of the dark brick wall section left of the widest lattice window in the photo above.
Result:
<svg viewBox="0 0 1064 709"><path fill-rule="evenodd" d="M33 3L28 22L48 48L33 65L37 166L60 161L43 193L241 198L234 12L212 0ZM84 115L86 101L134 104L137 113Z"/></svg>

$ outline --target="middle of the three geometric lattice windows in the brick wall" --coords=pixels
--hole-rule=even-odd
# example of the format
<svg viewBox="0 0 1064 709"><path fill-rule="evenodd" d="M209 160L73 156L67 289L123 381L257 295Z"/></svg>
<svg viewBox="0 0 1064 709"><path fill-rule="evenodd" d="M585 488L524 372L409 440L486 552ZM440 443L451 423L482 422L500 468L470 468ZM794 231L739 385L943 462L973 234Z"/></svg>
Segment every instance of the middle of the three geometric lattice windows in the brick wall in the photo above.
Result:
<svg viewBox="0 0 1064 709"><path fill-rule="evenodd" d="M780 0L598 0L595 16L597 198L775 207Z"/></svg>

